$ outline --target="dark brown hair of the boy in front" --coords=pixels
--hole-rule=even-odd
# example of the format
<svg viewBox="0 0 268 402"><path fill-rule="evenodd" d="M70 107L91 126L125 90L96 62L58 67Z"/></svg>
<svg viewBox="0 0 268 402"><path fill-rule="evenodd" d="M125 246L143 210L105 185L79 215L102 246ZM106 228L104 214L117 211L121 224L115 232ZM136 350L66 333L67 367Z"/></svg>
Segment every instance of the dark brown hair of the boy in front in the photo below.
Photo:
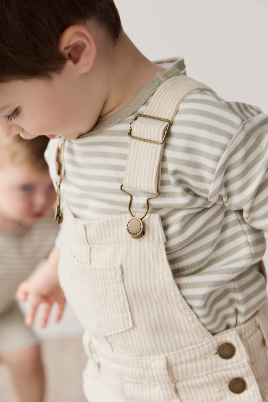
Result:
<svg viewBox="0 0 268 402"><path fill-rule="evenodd" d="M0 0L0 82L61 72L61 34L91 18L117 42L122 26L113 0Z"/></svg>

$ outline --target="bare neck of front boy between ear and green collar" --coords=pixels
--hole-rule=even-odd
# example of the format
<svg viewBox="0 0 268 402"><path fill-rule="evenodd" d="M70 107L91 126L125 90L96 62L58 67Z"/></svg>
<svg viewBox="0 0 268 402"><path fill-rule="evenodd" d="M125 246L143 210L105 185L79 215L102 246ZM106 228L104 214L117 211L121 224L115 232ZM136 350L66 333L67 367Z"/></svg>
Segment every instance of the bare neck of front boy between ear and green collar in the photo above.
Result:
<svg viewBox="0 0 268 402"><path fill-rule="evenodd" d="M157 72L166 69L150 62L123 32L110 58L110 86L98 123L131 102Z"/></svg>

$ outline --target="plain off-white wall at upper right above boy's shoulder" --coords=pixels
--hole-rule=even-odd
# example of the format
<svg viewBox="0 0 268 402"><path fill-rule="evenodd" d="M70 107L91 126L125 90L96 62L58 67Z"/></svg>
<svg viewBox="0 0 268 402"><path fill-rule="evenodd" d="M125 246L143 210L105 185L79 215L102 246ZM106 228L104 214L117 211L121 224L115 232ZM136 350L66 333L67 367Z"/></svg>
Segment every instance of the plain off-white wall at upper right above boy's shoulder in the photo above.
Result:
<svg viewBox="0 0 268 402"><path fill-rule="evenodd" d="M115 0L149 59L182 56L188 76L227 100L268 107L267 0Z"/></svg>

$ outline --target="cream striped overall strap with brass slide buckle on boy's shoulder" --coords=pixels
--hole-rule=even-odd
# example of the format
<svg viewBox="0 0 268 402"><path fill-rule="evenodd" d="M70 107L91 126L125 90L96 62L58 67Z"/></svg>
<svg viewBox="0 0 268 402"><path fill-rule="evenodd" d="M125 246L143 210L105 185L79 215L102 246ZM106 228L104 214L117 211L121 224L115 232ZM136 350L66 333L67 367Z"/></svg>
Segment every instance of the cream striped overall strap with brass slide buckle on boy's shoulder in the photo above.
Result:
<svg viewBox="0 0 268 402"><path fill-rule="evenodd" d="M153 94L143 115L136 115L129 130L130 148L123 186L159 193L165 138L180 103L194 90L214 92L207 85L177 76L166 80ZM123 188L123 187L122 187Z"/></svg>

